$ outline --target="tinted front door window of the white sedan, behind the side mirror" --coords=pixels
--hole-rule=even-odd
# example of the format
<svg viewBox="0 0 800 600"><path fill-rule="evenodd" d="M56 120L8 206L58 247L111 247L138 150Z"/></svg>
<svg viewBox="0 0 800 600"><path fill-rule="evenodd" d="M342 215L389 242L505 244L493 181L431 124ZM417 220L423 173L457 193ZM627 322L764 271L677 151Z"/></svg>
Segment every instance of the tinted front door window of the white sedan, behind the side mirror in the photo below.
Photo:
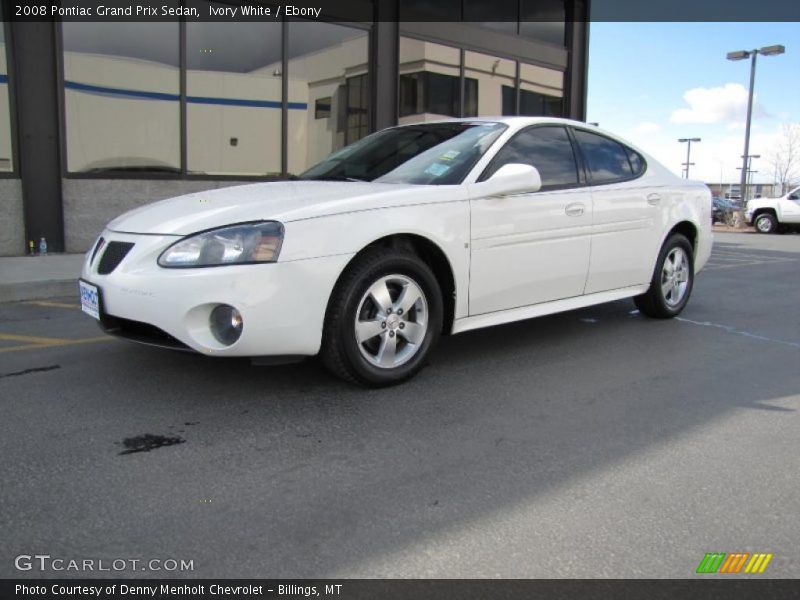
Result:
<svg viewBox="0 0 800 600"><path fill-rule="evenodd" d="M533 165L542 177L542 189L577 185L578 166L572 142L563 127L532 127L515 135L494 157L481 181L512 163Z"/></svg>

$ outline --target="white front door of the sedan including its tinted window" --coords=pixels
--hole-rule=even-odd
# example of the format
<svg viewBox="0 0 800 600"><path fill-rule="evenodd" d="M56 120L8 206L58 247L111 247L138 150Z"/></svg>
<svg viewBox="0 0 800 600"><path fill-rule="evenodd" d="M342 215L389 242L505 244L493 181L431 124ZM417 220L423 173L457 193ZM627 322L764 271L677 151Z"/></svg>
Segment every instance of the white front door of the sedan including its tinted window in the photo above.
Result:
<svg viewBox="0 0 800 600"><path fill-rule="evenodd" d="M536 167L542 189L471 198L470 315L580 296L586 285L592 199L567 130L534 125L520 131L481 180L510 163Z"/></svg>

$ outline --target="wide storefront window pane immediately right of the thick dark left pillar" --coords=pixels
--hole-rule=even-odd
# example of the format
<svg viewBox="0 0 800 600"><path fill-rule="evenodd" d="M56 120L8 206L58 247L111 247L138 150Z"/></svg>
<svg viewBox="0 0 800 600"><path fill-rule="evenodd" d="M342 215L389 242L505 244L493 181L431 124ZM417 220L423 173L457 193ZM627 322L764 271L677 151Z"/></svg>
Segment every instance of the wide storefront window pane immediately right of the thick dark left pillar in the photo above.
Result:
<svg viewBox="0 0 800 600"><path fill-rule="evenodd" d="M180 172L178 23L62 24L67 169Z"/></svg>

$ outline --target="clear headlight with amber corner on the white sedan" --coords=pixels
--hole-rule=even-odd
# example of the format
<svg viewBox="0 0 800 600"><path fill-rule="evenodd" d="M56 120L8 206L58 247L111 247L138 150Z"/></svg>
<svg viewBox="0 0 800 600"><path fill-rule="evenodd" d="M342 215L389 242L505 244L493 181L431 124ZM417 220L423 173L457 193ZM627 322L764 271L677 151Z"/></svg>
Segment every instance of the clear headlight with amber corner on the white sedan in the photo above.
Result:
<svg viewBox="0 0 800 600"><path fill-rule="evenodd" d="M196 233L172 244L158 257L162 267L218 267L278 260L283 225L276 221L239 223Z"/></svg>

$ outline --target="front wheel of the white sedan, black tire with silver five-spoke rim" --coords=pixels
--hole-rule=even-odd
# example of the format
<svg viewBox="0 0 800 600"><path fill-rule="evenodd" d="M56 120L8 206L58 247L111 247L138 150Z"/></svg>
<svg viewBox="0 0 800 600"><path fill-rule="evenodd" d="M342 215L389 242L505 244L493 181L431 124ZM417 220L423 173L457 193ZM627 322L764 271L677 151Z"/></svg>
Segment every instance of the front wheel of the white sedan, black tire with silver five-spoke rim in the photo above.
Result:
<svg viewBox="0 0 800 600"><path fill-rule="evenodd" d="M424 366L443 313L436 277L419 256L368 250L348 266L331 295L320 357L347 381L396 385Z"/></svg>

